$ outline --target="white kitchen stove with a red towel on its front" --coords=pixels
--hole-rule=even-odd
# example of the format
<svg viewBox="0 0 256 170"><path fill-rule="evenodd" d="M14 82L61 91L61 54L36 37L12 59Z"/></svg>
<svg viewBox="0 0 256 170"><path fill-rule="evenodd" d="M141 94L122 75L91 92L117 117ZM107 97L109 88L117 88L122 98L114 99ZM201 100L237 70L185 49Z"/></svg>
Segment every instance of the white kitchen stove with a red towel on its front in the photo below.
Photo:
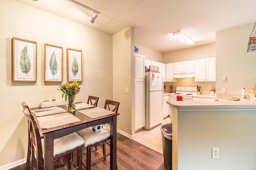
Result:
<svg viewBox="0 0 256 170"><path fill-rule="evenodd" d="M196 95L196 87L177 86L176 93L170 94L170 101L192 101L192 95Z"/></svg>

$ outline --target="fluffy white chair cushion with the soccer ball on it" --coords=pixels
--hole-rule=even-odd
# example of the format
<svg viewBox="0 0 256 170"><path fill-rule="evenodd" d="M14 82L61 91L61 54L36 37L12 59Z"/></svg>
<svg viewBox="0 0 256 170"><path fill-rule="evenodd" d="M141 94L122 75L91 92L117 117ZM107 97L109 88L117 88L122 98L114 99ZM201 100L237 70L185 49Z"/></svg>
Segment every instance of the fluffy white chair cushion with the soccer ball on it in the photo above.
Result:
<svg viewBox="0 0 256 170"><path fill-rule="evenodd" d="M84 147L87 147L88 145L97 143L110 137L110 129L105 125L103 125L103 128L100 132L94 132L92 131L91 127L88 127L76 133L84 139Z"/></svg>

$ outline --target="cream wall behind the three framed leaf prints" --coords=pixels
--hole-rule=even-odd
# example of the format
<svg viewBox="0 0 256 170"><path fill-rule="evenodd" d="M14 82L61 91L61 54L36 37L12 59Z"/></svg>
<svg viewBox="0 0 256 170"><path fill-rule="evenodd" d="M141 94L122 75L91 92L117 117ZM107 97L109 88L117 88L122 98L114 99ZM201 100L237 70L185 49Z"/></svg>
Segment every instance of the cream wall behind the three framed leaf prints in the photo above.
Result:
<svg viewBox="0 0 256 170"><path fill-rule="evenodd" d="M37 107L40 101L61 99L61 83L44 82L44 43L82 50L83 81L77 102L100 97L98 106L113 99L112 35L64 19L16 0L0 0L0 167L26 157L27 122L21 103ZM12 82L12 37L37 41L37 82ZM122 108L122 104L120 105Z"/></svg>

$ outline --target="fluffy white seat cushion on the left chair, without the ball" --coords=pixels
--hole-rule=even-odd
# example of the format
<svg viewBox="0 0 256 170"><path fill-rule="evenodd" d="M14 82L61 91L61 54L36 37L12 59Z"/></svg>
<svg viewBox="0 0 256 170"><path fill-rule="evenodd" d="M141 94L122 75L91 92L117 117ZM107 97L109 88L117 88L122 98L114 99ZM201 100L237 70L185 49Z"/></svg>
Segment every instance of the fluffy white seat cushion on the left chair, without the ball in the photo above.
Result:
<svg viewBox="0 0 256 170"><path fill-rule="evenodd" d="M41 141L42 141L42 149L43 149L43 155L44 155L44 139L41 139ZM83 144L84 144L84 139L76 133L71 133L64 137L54 139L53 155L55 156L57 154L64 153L68 150L75 149L76 147L80 147Z"/></svg>

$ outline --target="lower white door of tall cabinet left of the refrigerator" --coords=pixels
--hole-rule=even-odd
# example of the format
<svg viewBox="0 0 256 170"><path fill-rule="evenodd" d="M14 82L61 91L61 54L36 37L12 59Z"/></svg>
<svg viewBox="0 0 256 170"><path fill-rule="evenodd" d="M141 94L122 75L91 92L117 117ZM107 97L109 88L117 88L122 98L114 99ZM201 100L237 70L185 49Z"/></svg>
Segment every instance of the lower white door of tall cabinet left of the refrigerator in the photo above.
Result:
<svg viewBox="0 0 256 170"><path fill-rule="evenodd" d="M135 130L145 126L145 82L135 82Z"/></svg>

